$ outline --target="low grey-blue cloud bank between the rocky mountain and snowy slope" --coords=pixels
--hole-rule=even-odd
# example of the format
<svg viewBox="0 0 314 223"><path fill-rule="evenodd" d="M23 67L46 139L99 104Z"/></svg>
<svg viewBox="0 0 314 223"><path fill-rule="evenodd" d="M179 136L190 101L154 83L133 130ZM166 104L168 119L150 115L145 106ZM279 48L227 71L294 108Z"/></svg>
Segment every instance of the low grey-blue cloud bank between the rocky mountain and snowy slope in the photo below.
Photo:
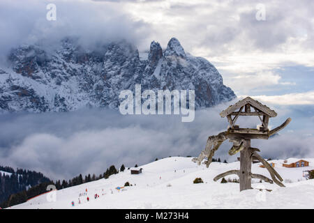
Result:
<svg viewBox="0 0 314 223"><path fill-rule="evenodd" d="M207 137L227 128L219 112L227 105L196 111L193 123L180 116L122 116L110 109L89 109L68 113L2 114L0 116L0 164L42 171L50 178L71 178L78 174L102 174L114 164L145 164L156 157L199 155ZM313 114L296 109L275 108L278 117L271 128L287 116L292 123L269 140L253 140L265 158L314 157ZM278 110L279 109L279 110ZM241 126L253 127L258 118L242 118ZM304 123L297 125L296 123ZM312 124L311 124L312 123ZM215 157L229 156L225 141Z"/></svg>

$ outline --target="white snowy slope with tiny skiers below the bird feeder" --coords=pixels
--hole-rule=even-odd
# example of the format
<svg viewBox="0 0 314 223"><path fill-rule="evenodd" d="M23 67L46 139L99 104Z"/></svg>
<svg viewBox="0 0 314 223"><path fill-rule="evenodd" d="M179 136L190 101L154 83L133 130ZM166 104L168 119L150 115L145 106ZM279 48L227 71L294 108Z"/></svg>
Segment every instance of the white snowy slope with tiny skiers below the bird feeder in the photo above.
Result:
<svg viewBox="0 0 314 223"><path fill-rule="evenodd" d="M282 167L283 160L271 160L286 181L286 187L257 183L258 180L252 184L253 188L267 188L271 192L239 192L238 183L214 182L217 174L239 169L239 162L213 162L207 169L204 164L197 166L191 159L165 158L143 165L139 175L130 175L130 170L126 169L108 179L59 190L55 202L47 201L47 194L43 194L11 208L314 208L314 180L302 177L302 171L314 169L314 159L305 159L310 162L310 167L299 168L285 168ZM253 164L253 173L270 177L259 165ZM204 183L193 184L197 177ZM229 177L237 178L235 175ZM124 186L126 181L133 186L121 191L115 189ZM86 189L90 201L83 196L79 204L79 194ZM96 193L100 195L98 199L94 199ZM75 201L74 207L71 201Z"/></svg>

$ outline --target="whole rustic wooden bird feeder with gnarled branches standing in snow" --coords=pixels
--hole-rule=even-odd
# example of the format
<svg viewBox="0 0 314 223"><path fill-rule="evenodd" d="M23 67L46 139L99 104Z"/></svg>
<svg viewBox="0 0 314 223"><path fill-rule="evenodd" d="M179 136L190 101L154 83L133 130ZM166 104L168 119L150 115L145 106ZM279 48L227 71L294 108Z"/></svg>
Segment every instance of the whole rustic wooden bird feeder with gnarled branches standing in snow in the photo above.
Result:
<svg viewBox="0 0 314 223"><path fill-rule="evenodd" d="M260 150L251 147L251 139L269 139L271 135L285 128L285 126L290 123L291 118L287 118L282 125L274 128L274 130L269 130L269 118L276 117L276 112L250 97L244 98L234 105L231 105L223 112L220 112L220 116L227 117L229 122L227 131L209 137L204 151L200 153L199 157L193 158L193 162L201 164L204 157L207 157L206 164L207 167L209 167L215 151L218 150L223 141L229 139L229 141L233 143L232 148L228 152L229 155L234 155L240 152L240 169L230 170L223 174L219 174L214 178L215 181L227 175L237 174L240 181L240 191L252 189L251 178L260 178L268 183L275 182L277 185L285 187L285 185L281 183L283 178L281 178L277 171L257 153L260 152ZM239 116L258 116L261 125L256 129L240 128L239 125L235 125ZM264 167L269 171L272 180L266 176L251 173L251 165L254 160L262 162Z"/></svg>

